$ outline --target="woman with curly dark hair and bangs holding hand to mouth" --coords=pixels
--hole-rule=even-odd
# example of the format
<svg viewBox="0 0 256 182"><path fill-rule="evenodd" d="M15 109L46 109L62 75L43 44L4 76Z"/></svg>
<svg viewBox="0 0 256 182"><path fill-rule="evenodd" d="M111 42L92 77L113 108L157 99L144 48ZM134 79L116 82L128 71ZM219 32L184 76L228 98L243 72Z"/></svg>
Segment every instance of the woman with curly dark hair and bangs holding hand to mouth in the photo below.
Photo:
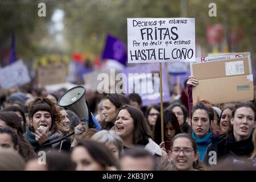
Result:
<svg viewBox="0 0 256 182"><path fill-rule="evenodd" d="M47 143L55 142L62 137L57 130L57 123L61 123L60 109L48 98L35 98L28 104L28 118L30 126L28 126L24 137L31 143L35 151L42 150ZM43 131L40 126L46 127ZM54 143L51 147L59 146Z"/></svg>

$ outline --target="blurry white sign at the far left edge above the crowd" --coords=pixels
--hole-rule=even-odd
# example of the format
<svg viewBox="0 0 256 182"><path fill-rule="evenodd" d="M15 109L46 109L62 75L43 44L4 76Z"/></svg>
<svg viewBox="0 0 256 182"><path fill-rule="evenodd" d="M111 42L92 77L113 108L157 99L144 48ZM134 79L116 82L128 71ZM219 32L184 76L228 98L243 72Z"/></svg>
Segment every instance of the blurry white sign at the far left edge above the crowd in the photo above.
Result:
<svg viewBox="0 0 256 182"><path fill-rule="evenodd" d="M13 64L1 68L0 75L0 85L5 89L30 82L27 67L22 60L15 61Z"/></svg>

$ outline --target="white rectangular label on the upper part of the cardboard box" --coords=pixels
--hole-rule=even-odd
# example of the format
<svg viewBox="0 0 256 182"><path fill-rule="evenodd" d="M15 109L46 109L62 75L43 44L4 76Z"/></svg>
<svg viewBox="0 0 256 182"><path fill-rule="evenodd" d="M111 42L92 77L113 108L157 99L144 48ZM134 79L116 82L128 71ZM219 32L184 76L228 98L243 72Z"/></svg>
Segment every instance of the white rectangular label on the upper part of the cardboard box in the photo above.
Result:
<svg viewBox="0 0 256 182"><path fill-rule="evenodd" d="M226 76L245 74L243 61L232 61L225 63Z"/></svg>

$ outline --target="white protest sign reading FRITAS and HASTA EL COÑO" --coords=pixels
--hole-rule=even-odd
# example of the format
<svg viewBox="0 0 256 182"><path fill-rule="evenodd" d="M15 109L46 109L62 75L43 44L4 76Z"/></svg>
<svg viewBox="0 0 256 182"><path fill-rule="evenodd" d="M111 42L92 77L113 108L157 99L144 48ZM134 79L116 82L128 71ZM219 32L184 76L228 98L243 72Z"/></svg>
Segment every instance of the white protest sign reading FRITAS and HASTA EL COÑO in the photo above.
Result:
<svg viewBox="0 0 256 182"><path fill-rule="evenodd" d="M128 63L195 61L195 18L127 18Z"/></svg>

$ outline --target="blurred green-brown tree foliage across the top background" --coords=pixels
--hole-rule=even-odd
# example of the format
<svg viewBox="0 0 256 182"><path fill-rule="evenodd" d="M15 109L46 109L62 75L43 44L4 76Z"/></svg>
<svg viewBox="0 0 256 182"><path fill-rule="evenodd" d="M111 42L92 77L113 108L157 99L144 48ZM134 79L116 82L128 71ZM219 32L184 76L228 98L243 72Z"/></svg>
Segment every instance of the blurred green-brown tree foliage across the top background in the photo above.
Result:
<svg viewBox="0 0 256 182"><path fill-rule="evenodd" d="M37 15L38 3L45 2L47 17ZM209 17L209 3L217 5L217 17ZM229 46L229 51L255 54L256 30L254 0L72 0L72 1L1 1L0 0L0 49L10 46L10 34L15 31L17 52L22 57L32 57L48 52L92 52L101 55L107 34L117 36L127 43L126 18L176 18L181 17L181 3L187 17L196 18L196 39L204 51L211 52L207 43L206 27L224 25L228 32L241 31L243 38ZM48 25L54 9L65 12L64 38L68 49L49 49L43 39L52 39ZM49 44L49 43L48 43Z"/></svg>

